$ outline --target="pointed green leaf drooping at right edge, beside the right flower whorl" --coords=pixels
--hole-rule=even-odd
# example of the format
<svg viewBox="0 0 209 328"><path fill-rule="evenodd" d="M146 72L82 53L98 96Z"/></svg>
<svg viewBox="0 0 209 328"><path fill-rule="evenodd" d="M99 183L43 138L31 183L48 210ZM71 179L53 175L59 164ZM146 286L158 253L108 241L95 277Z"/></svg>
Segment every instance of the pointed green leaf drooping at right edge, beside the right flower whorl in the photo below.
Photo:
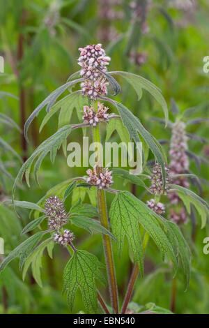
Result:
<svg viewBox="0 0 209 328"><path fill-rule="evenodd" d="M199 195L196 195L193 191L190 191L187 188L182 186L177 186L176 184L171 184L171 187L175 188L176 193L185 204L185 207L190 214L190 206L189 203L194 205L196 211L199 212L201 216L201 229L206 226L207 217L209 216L209 206L208 203L203 200Z"/></svg>

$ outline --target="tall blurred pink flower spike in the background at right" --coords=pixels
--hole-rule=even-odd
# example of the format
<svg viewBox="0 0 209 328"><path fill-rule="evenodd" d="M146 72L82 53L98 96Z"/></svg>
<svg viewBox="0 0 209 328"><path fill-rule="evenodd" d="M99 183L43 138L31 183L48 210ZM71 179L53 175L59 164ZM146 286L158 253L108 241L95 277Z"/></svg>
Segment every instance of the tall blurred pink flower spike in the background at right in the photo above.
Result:
<svg viewBox="0 0 209 328"><path fill-rule="evenodd" d="M185 133L185 124L181 121L176 121L173 124L171 144L170 144L170 174L185 174L189 170L189 161L186 154L187 151L187 135ZM189 183L185 177L176 177L171 179L172 184L189 187ZM177 193L169 193L169 200L172 204L179 202Z"/></svg>

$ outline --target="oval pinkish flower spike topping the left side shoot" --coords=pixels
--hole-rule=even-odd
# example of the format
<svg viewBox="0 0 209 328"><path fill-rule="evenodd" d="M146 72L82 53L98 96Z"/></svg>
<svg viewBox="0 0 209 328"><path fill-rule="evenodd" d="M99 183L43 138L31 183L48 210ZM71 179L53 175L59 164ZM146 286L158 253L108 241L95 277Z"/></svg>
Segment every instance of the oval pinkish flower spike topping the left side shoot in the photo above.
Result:
<svg viewBox="0 0 209 328"><path fill-rule="evenodd" d="M49 228L59 230L63 224L68 223L68 215L61 199L50 196L45 201L45 214L48 218Z"/></svg>

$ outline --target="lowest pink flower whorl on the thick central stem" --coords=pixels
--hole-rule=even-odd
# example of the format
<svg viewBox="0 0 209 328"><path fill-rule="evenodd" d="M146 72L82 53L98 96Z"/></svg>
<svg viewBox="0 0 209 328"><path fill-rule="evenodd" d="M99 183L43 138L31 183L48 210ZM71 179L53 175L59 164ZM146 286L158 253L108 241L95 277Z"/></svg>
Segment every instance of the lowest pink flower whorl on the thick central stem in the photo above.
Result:
<svg viewBox="0 0 209 328"><path fill-rule="evenodd" d="M109 171L108 167L105 167L101 173L98 173L95 166L93 170L88 169L86 173L88 174L86 181L93 186L97 186L99 189L109 188L113 184L112 172Z"/></svg>

